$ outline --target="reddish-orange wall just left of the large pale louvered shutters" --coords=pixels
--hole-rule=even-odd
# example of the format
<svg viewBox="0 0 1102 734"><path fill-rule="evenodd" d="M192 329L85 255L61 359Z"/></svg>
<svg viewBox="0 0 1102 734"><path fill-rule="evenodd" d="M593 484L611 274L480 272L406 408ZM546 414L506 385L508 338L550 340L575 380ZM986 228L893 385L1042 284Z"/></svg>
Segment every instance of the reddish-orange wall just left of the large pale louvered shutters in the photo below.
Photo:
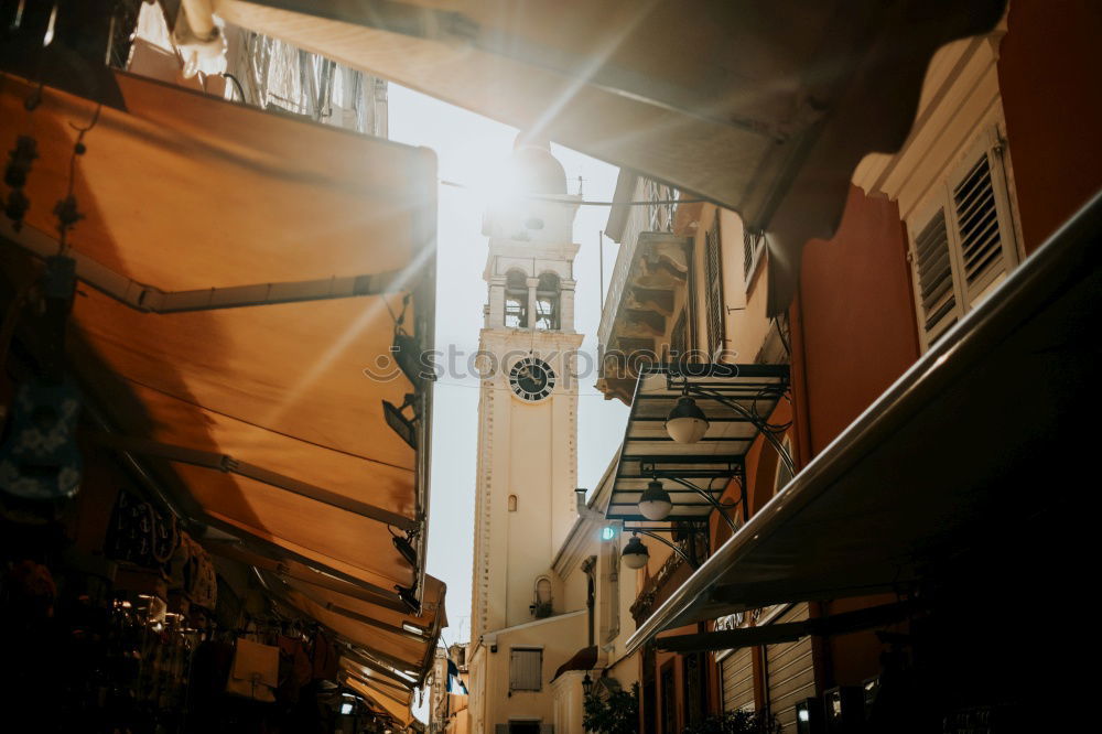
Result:
<svg viewBox="0 0 1102 734"><path fill-rule="evenodd" d="M803 465L919 356L907 238L895 203L851 187L838 234L830 241L811 240L803 251L800 295L792 311L796 444ZM769 458L748 456L747 469ZM752 507L758 509L764 498L755 497ZM888 601L858 597L812 604L811 614ZM872 632L813 643L823 687L860 684L879 672L882 646Z"/></svg>

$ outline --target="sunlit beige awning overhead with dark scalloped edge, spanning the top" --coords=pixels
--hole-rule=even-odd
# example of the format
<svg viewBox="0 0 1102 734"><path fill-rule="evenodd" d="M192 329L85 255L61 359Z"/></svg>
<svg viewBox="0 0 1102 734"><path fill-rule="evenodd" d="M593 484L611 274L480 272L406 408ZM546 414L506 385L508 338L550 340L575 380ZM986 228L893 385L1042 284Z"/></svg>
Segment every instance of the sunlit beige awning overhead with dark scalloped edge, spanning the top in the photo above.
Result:
<svg viewBox="0 0 1102 734"><path fill-rule="evenodd" d="M903 144L933 52L990 31L1005 0L214 4L733 208L770 233L777 314L804 241L841 219L854 166Z"/></svg>

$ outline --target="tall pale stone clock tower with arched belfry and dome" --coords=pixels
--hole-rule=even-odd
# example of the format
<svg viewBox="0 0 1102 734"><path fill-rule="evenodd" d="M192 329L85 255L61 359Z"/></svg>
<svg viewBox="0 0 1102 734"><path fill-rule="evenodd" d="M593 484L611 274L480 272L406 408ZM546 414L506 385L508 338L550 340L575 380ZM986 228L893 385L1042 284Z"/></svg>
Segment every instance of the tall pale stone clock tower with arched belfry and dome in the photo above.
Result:
<svg viewBox="0 0 1102 734"><path fill-rule="evenodd" d="M573 224L581 197L566 193L565 173L548 143L518 138L509 163L511 199L490 207L483 220L489 251L475 360L482 377L471 619L475 687L486 681L479 661L490 665L487 640L563 612L551 564L577 516L574 355L582 335L574 331ZM508 666L507 651L493 652ZM472 713L479 731L479 715Z"/></svg>

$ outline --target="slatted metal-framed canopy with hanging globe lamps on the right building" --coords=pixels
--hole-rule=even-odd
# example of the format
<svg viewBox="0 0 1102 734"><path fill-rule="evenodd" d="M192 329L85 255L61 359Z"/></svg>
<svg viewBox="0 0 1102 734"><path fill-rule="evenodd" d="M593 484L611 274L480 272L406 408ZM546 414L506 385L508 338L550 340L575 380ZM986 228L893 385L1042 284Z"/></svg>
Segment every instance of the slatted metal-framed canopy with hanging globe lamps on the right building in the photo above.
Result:
<svg viewBox="0 0 1102 734"><path fill-rule="evenodd" d="M645 366L636 384L613 478L606 517L625 522L625 530L660 531L638 510L639 496L651 479L662 482L673 503L663 522L704 522L719 511L732 530L727 514L738 505L746 512L746 453L758 435L791 457L778 438L787 425L768 422L777 403L787 398L787 365L658 364ZM700 442L676 443L666 432L666 418L678 399L689 395L707 417ZM738 482L738 503L720 497L732 479ZM742 518L745 520L745 517ZM649 535L649 533L648 533Z"/></svg>

